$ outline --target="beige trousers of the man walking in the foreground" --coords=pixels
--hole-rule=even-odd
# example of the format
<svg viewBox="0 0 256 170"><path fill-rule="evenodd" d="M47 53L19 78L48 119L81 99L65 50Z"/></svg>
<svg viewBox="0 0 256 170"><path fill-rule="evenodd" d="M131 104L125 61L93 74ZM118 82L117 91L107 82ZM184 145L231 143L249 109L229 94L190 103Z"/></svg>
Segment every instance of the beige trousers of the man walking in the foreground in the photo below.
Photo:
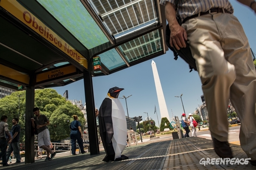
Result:
<svg viewBox="0 0 256 170"><path fill-rule="evenodd" d="M241 122L241 147L256 160L256 72L241 24L232 14L217 13L190 19L182 26L201 78L212 136L227 141L230 99Z"/></svg>

